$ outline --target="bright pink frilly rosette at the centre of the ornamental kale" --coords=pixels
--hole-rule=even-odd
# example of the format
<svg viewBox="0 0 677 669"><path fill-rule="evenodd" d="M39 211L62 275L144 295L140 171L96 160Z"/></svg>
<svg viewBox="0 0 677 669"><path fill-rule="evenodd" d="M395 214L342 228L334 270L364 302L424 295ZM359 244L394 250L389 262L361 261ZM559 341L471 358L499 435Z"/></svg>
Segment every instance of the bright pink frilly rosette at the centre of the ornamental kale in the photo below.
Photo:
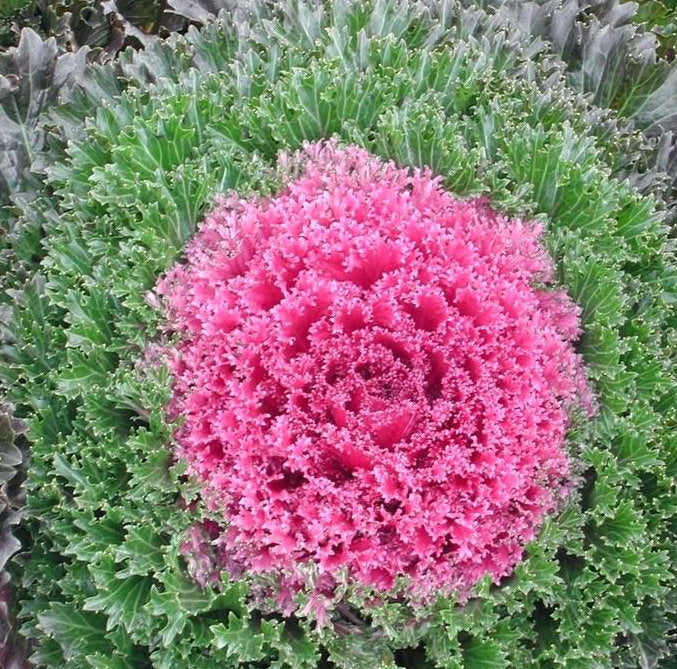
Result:
<svg viewBox="0 0 677 669"><path fill-rule="evenodd" d="M579 312L540 227L427 172L307 146L223 200L161 281L179 455L254 571L380 588L508 574L566 488Z"/></svg>

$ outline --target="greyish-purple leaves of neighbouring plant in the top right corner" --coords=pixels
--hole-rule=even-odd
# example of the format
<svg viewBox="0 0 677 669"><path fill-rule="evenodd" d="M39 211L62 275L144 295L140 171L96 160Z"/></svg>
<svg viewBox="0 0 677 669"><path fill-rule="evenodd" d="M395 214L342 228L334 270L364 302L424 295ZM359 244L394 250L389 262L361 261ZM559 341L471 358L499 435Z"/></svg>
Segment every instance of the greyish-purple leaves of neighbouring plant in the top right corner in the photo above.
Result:
<svg viewBox="0 0 677 669"><path fill-rule="evenodd" d="M658 55L656 36L633 21L637 4L608 0L485 0L526 39L542 38L567 64L567 82L600 108L613 109L626 129L652 145L648 173L630 164L639 188L665 172L671 209L677 184L677 68ZM646 157L637 156L640 164Z"/></svg>

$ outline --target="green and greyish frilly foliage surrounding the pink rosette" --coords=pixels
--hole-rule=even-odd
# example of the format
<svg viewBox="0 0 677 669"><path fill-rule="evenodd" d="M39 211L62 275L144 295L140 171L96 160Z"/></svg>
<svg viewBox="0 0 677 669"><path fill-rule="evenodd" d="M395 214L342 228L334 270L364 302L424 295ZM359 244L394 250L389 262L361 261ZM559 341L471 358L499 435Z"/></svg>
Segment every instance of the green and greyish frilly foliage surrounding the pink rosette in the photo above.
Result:
<svg viewBox="0 0 677 669"><path fill-rule="evenodd" d="M29 3L18 16L42 34L0 55L0 661L674 666L672 10L85 4ZM205 512L180 504L199 496L168 448L168 373L140 360L162 343L148 291L214 194L273 193L280 150L331 136L544 222L600 411L569 437L577 494L511 578L416 609L348 590L317 629L253 578L188 576L180 547Z"/></svg>

